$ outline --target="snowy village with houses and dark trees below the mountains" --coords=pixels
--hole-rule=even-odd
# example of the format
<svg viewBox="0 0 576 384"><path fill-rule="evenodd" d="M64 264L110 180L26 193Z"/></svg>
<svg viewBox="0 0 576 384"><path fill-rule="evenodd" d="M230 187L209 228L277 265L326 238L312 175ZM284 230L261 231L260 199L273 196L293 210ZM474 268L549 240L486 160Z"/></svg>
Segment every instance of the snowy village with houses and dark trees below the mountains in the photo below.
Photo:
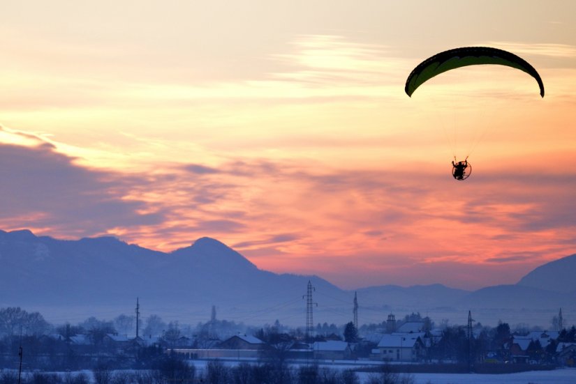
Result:
<svg viewBox="0 0 576 384"><path fill-rule="evenodd" d="M10 309L15 310L0 309L0 314ZM148 326L130 336L118 332L114 323L95 318L51 327L26 322L41 317L37 313L20 310L20 314L24 315L20 316L24 335L19 333L22 326L12 323L8 328L3 322L0 368L15 369L19 355L22 367L29 371L93 369L103 364L110 369L147 369L164 355L187 362L397 364L464 371L554 369L576 363L576 328L565 328L562 322L556 330L511 329L508 323L491 328L472 325L472 321L437 327L430 318L412 313L398 320L389 314L380 324L360 328L353 321L340 327L325 323L309 329L289 328L276 321L246 328L214 316L195 328L169 323L161 325L163 330L156 327L152 333Z"/></svg>

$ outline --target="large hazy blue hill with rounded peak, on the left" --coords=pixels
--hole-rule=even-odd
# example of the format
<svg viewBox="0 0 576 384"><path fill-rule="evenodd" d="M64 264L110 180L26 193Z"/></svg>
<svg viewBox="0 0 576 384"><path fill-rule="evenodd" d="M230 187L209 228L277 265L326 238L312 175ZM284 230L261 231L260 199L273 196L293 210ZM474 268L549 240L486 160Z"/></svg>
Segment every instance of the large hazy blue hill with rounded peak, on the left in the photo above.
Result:
<svg viewBox="0 0 576 384"><path fill-rule="evenodd" d="M309 281L330 297L349 295L317 276L259 270L212 238L163 253L112 237L56 240L0 231L0 265L0 307L64 312L71 321L129 314L139 297L148 314L191 323L207 321L212 305L230 320L272 323L274 316L302 316Z"/></svg>

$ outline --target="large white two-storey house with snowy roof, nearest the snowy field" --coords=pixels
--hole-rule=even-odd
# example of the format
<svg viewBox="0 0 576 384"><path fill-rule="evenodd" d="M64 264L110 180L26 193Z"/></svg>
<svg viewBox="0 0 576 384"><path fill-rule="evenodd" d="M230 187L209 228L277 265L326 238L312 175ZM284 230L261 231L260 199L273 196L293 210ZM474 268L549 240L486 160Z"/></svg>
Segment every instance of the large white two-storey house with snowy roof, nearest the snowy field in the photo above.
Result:
<svg viewBox="0 0 576 384"><path fill-rule="evenodd" d="M378 360L415 362L426 356L422 333L393 333L383 335L378 343ZM374 355L374 353L373 353Z"/></svg>

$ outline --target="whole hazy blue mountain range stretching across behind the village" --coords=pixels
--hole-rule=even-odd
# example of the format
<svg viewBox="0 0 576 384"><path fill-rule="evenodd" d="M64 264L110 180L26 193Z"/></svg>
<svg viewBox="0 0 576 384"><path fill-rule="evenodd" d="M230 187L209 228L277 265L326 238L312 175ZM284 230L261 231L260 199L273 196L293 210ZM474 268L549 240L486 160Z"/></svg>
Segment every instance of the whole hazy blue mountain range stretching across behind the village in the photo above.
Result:
<svg viewBox="0 0 576 384"><path fill-rule="evenodd" d="M372 286L347 291L318 276L276 274L258 269L212 238L165 253L113 237L57 240L28 230L0 231L0 307L38 310L48 321L131 314L139 298L143 316L197 323L219 318L263 325L306 320L307 284L314 286L315 323L352 320L357 293L360 323L381 323L420 312L434 321L527 323L549 327L562 307L576 320L576 254L546 263L517 282L477 291L427 286Z"/></svg>

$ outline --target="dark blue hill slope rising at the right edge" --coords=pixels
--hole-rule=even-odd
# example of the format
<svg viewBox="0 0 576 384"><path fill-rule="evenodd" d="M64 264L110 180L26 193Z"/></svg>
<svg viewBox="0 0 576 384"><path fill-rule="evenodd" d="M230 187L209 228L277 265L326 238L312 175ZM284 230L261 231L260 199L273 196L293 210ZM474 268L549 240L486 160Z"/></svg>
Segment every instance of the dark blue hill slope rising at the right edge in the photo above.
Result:
<svg viewBox="0 0 576 384"><path fill-rule="evenodd" d="M550 261L522 277L520 286L532 286L547 291L576 293L576 254Z"/></svg>

